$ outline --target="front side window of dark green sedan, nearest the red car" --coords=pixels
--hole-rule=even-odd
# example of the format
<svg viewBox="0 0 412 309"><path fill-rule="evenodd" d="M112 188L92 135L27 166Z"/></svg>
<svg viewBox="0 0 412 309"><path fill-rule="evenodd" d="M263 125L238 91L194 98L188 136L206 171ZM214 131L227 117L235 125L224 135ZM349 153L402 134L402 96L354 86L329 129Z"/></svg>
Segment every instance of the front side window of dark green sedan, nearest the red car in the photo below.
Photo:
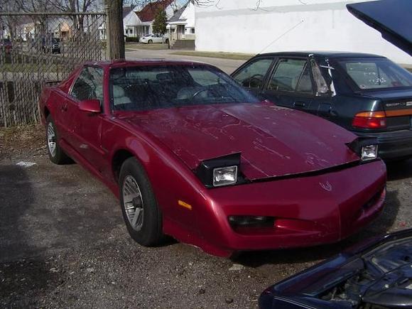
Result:
<svg viewBox="0 0 412 309"><path fill-rule="evenodd" d="M273 60L269 58L255 60L243 67L233 78L243 87L260 88L272 62Z"/></svg>

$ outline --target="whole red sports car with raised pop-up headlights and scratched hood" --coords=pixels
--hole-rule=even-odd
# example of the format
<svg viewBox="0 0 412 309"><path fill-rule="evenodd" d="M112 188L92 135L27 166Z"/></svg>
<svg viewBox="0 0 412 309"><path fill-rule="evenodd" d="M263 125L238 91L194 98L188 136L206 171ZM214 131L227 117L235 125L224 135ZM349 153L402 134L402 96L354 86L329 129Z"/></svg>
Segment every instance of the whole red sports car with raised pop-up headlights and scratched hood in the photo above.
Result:
<svg viewBox="0 0 412 309"><path fill-rule="evenodd" d="M102 180L144 246L168 234L229 256L337 242L384 204L376 141L259 102L211 65L86 63L40 108L50 160Z"/></svg>

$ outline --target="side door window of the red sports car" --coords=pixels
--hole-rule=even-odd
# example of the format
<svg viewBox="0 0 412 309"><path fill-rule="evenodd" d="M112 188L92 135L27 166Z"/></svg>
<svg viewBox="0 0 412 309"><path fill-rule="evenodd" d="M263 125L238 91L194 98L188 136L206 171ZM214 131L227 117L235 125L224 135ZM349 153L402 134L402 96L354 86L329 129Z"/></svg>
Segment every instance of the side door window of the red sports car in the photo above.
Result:
<svg viewBox="0 0 412 309"><path fill-rule="evenodd" d="M100 67L84 67L72 87L72 97L79 101L99 99L103 102L103 69Z"/></svg>

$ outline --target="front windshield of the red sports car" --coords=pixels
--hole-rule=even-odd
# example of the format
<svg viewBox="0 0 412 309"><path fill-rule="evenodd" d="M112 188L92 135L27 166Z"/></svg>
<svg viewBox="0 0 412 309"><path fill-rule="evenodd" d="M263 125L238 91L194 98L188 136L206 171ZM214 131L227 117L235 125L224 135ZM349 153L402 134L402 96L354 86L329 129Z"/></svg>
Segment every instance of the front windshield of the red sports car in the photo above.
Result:
<svg viewBox="0 0 412 309"><path fill-rule="evenodd" d="M205 65L114 68L110 71L110 101L115 111L259 102L231 77Z"/></svg>

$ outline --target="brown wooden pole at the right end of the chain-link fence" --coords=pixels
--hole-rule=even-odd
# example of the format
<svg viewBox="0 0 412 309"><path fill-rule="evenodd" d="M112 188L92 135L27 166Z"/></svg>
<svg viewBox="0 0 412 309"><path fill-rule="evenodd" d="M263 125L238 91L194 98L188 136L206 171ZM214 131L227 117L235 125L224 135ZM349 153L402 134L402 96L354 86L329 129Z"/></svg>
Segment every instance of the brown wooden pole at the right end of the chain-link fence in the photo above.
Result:
<svg viewBox="0 0 412 309"><path fill-rule="evenodd" d="M123 0L104 0L106 44L109 59L124 58Z"/></svg>

